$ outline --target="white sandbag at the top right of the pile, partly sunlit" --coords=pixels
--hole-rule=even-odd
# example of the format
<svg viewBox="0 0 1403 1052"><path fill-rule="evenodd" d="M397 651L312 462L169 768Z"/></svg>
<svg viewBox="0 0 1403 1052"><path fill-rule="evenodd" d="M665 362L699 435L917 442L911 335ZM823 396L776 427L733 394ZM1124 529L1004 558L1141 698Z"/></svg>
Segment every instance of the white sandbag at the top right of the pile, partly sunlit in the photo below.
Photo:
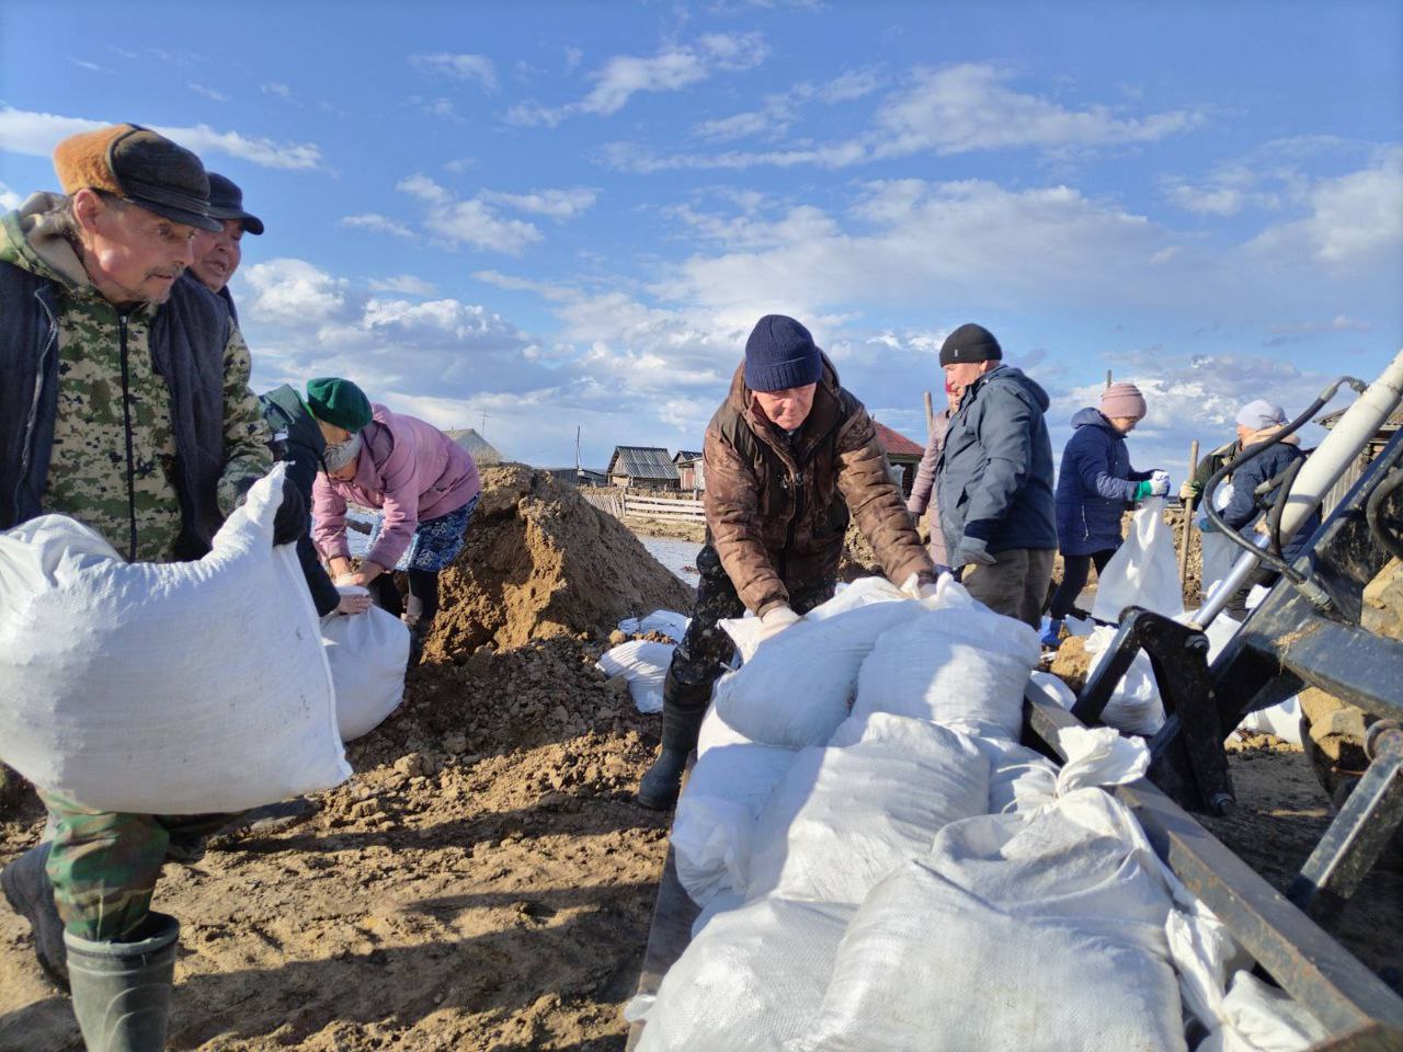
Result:
<svg viewBox="0 0 1403 1052"><path fill-rule="evenodd" d="M974 600L882 633L863 661L853 715L894 713L974 735L1017 738L1041 648L1027 624Z"/></svg>

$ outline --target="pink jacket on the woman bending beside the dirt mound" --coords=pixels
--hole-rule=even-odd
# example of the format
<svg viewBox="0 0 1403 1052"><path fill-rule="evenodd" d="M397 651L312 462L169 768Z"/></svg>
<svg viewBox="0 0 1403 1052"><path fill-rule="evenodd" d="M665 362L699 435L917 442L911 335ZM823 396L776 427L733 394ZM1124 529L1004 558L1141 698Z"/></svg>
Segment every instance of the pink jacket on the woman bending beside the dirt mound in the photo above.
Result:
<svg viewBox="0 0 1403 1052"><path fill-rule="evenodd" d="M349 558L347 501L380 508L384 523L366 561L393 567L410 547L414 529L455 512L483 488L471 454L417 417L370 407L361 431L355 477L340 483L317 473L311 487L311 539L327 558Z"/></svg>

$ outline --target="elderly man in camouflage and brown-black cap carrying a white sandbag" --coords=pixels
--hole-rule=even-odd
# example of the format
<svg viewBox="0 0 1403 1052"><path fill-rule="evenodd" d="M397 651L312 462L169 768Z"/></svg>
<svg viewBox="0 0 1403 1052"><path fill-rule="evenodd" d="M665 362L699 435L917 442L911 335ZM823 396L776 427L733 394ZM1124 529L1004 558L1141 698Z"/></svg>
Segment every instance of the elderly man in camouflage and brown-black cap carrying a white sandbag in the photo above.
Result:
<svg viewBox="0 0 1403 1052"><path fill-rule="evenodd" d="M178 281L219 229L205 170L133 125L63 140L55 168L65 195L0 219L0 529L62 513L130 561L199 558L272 464L227 306ZM304 529L285 487L275 543ZM167 850L224 816L45 804L53 839L0 871L6 899L60 985L70 948L111 964L72 976L90 1049L161 1048L178 924L152 893Z"/></svg>

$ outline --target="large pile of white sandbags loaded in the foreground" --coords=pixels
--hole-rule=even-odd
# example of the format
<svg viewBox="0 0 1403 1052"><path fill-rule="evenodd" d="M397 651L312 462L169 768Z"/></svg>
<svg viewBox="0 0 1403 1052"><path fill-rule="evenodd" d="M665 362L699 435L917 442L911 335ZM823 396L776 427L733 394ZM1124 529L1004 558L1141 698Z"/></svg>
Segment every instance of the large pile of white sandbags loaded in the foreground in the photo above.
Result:
<svg viewBox="0 0 1403 1052"><path fill-rule="evenodd" d="M1319 1037L1100 788L1141 742L1070 731L1061 770L1017 745L1027 626L948 578L843 600L717 686L672 832L703 909L630 1006L641 1052L1187 1049L1186 1006L1212 1048Z"/></svg>

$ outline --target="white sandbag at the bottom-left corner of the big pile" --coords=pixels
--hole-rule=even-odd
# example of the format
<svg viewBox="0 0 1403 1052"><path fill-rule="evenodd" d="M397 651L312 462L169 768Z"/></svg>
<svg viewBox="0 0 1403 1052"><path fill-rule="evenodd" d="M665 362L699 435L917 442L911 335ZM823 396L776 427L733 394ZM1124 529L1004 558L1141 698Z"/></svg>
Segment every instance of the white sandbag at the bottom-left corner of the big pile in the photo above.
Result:
<svg viewBox="0 0 1403 1052"><path fill-rule="evenodd" d="M662 978L638 1052L779 1052L812 1021L852 916L783 899L716 915Z"/></svg>

